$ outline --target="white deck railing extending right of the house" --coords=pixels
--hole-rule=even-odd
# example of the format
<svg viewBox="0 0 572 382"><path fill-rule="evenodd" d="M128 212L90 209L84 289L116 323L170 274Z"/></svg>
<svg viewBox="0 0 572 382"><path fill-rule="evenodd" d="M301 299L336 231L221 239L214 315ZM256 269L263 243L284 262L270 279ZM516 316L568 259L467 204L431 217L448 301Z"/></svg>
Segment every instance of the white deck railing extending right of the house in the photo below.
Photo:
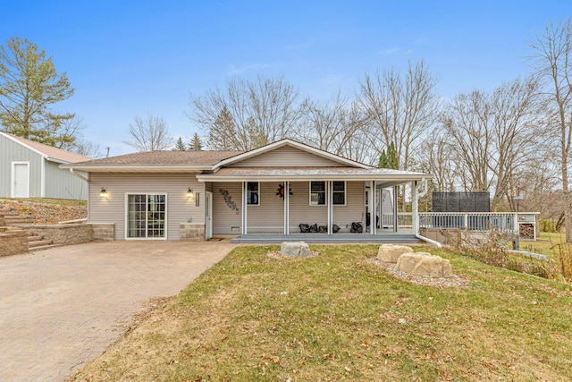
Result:
<svg viewBox="0 0 572 382"><path fill-rule="evenodd" d="M420 228L459 228L468 231L491 231L506 233L518 231L516 213L493 212L420 212Z"/></svg>

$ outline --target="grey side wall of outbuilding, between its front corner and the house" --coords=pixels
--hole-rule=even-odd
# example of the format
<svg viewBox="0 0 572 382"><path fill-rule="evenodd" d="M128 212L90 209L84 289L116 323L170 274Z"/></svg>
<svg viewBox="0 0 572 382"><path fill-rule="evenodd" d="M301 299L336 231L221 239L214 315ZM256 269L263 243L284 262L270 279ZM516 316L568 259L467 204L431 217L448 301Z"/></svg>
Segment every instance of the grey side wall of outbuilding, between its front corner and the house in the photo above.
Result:
<svg viewBox="0 0 572 382"><path fill-rule="evenodd" d="M71 174L70 170L58 166L57 163L46 161L46 198L88 199L88 183ZM88 177L87 173L80 171L76 174Z"/></svg>

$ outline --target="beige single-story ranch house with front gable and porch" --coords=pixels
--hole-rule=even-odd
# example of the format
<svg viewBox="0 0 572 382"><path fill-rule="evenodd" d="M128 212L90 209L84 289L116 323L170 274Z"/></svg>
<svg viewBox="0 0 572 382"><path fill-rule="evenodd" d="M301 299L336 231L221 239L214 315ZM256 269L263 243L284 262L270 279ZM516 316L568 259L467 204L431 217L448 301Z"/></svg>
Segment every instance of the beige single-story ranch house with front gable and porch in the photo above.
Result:
<svg viewBox="0 0 572 382"><path fill-rule="evenodd" d="M431 177L295 140L246 152L150 151L61 167L88 174L88 222L114 240L414 242L417 199ZM394 191L404 183L412 186L408 229L398 226ZM368 216L377 216L371 225ZM387 223L379 216L394 217Z"/></svg>

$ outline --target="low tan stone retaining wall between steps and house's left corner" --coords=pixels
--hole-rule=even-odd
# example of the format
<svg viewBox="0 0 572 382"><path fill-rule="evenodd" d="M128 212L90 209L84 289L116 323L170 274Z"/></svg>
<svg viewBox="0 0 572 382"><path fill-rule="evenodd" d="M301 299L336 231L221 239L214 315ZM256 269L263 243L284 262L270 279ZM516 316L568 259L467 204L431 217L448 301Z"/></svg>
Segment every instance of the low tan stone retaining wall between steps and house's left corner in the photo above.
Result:
<svg viewBox="0 0 572 382"><path fill-rule="evenodd" d="M43 236L55 245L81 244L93 240L91 225L19 225L29 233Z"/></svg>

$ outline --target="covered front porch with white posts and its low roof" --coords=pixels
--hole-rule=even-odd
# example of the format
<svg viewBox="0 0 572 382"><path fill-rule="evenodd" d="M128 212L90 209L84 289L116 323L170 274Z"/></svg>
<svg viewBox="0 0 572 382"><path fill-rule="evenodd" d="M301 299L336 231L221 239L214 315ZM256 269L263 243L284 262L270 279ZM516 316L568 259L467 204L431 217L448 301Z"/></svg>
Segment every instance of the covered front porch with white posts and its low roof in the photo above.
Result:
<svg viewBox="0 0 572 382"><path fill-rule="evenodd" d="M198 180L213 192L214 236L238 234L232 242L419 241L417 199L419 188L425 190L421 174L344 168L341 175L340 170L319 169L328 174L318 177L307 170L266 174L251 169L253 174L247 174L244 168L223 169L199 175ZM398 213L401 184L410 185L415 211L405 227Z"/></svg>

